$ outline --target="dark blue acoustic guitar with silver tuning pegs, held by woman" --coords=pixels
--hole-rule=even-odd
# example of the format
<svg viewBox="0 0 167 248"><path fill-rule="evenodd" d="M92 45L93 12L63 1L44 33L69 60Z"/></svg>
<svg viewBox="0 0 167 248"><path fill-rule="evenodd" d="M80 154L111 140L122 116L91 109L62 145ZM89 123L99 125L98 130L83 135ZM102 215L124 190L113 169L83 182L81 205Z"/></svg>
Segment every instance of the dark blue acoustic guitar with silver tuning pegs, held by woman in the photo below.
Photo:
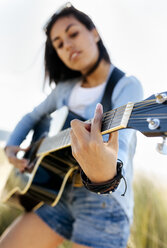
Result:
<svg viewBox="0 0 167 248"><path fill-rule="evenodd" d="M67 117L70 122L73 118L69 117L70 114L63 107L63 122ZM55 125L57 122L52 126ZM125 128L138 130L148 137L166 137L167 92L154 94L140 102L129 102L103 114L102 135ZM13 167L4 186L1 202L12 202L19 198L28 211L43 203L55 206L67 183L81 186L79 165L71 154L70 128L56 135L53 135L53 129L51 128L52 135L49 134L31 146L27 156L30 159L29 170L20 173Z"/></svg>

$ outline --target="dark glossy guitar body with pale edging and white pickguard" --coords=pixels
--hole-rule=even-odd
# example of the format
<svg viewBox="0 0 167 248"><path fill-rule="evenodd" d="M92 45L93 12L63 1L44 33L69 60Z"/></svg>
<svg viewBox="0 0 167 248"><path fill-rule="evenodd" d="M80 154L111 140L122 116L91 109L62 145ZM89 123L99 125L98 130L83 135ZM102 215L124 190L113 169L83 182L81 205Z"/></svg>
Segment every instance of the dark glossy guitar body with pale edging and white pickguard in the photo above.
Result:
<svg viewBox="0 0 167 248"><path fill-rule="evenodd" d="M74 171L78 171L78 164L72 156L70 146L46 152L39 157L36 153L46 133L53 136L53 133L59 133L57 126L61 131L69 127L72 119L83 118L68 111L66 107L55 111L51 117L37 124L35 129L38 132L34 133L31 149L24 155L30 160L30 164L33 164L32 168L21 173L13 167L1 195L2 202L21 205L26 211L38 208L44 202L55 206L66 183L72 183ZM81 186L79 174L75 174L75 186Z"/></svg>

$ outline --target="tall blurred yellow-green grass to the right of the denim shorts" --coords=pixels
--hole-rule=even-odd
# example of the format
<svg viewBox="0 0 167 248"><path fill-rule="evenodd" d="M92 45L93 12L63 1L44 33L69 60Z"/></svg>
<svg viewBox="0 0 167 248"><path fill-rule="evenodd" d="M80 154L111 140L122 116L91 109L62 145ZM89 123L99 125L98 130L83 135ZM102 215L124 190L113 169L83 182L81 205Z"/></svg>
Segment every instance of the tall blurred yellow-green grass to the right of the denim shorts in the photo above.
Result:
<svg viewBox="0 0 167 248"><path fill-rule="evenodd" d="M167 248L167 189L160 185L143 175L134 182L131 248Z"/></svg>

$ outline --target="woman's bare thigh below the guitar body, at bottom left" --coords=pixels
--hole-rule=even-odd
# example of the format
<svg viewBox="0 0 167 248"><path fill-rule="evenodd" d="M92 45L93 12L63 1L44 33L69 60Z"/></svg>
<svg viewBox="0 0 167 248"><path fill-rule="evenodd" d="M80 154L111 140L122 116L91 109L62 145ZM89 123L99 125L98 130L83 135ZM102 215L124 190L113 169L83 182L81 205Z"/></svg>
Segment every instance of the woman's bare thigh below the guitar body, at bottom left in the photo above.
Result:
<svg viewBox="0 0 167 248"><path fill-rule="evenodd" d="M63 240L35 213L27 213L7 228L1 237L0 248L55 248Z"/></svg>

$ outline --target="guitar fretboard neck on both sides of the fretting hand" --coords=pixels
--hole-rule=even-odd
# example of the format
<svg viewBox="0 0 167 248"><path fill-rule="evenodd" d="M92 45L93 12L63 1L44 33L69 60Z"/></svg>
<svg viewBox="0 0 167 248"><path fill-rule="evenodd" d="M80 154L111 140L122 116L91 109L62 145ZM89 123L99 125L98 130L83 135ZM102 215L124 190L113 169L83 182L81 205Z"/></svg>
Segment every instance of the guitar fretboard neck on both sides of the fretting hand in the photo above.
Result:
<svg viewBox="0 0 167 248"><path fill-rule="evenodd" d="M104 113L102 118L101 134L103 135L126 128L133 109L133 105L133 103L127 103L122 107ZM91 123L91 120L86 122ZM46 137L38 149L37 156L41 156L70 146L70 130L71 128L68 128L62 130L55 136Z"/></svg>

